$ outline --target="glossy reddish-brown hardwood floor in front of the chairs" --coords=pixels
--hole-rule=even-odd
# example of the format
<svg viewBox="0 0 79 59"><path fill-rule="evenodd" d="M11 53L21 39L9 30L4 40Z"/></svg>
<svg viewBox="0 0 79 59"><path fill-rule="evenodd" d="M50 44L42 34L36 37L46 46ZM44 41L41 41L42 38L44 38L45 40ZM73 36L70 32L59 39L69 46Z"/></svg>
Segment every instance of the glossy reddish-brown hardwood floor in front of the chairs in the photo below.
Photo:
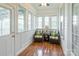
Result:
<svg viewBox="0 0 79 59"><path fill-rule="evenodd" d="M60 45L48 42L34 42L19 56L64 56L64 54Z"/></svg>

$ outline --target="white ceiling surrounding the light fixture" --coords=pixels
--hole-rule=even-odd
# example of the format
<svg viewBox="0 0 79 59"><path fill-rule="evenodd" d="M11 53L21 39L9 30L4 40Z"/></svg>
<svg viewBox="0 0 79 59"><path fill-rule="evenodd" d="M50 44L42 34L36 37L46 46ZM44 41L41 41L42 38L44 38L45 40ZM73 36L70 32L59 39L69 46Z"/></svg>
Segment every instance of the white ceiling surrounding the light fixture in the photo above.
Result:
<svg viewBox="0 0 79 59"><path fill-rule="evenodd" d="M31 3L31 5L36 9L36 10L54 10L59 8L61 5L60 3L48 3L49 6L40 6L41 3Z"/></svg>

